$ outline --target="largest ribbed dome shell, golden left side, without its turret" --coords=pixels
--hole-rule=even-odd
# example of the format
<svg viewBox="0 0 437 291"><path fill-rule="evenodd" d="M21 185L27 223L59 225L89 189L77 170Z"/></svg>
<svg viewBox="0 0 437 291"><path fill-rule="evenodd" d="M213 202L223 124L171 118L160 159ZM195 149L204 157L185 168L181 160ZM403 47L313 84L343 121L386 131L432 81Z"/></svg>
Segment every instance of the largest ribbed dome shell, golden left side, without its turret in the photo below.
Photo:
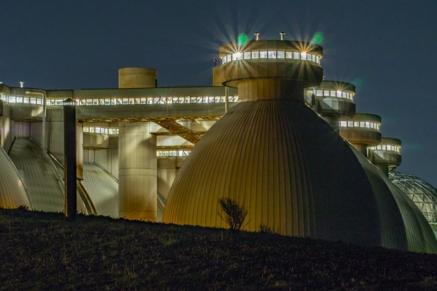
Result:
<svg viewBox="0 0 437 291"><path fill-rule="evenodd" d="M239 103L196 144L169 193L164 222L226 227L218 198L288 236L382 245L378 204L339 135L303 103Z"/></svg>

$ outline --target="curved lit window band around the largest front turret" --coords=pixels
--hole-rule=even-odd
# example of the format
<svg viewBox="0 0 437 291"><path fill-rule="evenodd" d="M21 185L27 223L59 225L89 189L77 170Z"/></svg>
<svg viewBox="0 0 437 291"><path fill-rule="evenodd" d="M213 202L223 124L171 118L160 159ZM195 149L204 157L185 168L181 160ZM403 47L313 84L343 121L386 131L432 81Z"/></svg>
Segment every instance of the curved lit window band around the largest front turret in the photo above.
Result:
<svg viewBox="0 0 437 291"><path fill-rule="evenodd" d="M243 53L232 53L223 55L221 62L232 62L234 60L254 60L254 59L291 59L308 60L320 64L320 57L312 53L298 53L297 51L245 51Z"/></svg>

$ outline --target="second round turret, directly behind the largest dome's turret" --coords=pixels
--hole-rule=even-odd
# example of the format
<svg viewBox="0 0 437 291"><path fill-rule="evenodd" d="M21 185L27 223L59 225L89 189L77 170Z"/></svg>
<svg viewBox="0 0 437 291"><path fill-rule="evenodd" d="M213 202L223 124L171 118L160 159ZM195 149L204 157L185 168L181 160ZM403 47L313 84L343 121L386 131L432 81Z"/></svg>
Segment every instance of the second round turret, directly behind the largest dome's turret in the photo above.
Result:
<svg viewBox="0 0 437 291"><path fill-rule="evenodd" d="M315 109L334 130L339 121L355 115L355 86L347 82L323 81L315 88Z"/></svg>

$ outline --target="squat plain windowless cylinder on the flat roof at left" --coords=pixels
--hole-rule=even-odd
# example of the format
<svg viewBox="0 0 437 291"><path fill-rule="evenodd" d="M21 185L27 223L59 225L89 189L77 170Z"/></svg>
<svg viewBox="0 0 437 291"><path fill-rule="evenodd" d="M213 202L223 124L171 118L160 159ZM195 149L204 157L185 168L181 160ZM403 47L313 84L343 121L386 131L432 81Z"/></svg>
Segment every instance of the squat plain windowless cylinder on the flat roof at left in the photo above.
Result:
<svg viewBox="0 0 437 291"><path fill-rule="evenodd" d="M121 68L119 69L119 88L155 88L156 69Z"/></svg>

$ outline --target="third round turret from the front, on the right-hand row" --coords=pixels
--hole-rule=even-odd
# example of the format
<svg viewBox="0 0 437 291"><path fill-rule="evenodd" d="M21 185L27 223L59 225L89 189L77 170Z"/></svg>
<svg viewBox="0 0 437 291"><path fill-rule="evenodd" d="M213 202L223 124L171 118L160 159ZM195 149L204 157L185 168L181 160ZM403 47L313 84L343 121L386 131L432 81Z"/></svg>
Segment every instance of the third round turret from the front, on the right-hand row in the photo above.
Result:
<svg viewBox="0 0 437 291"><path fill-rule="evenodd" d="M357 113L353 118L340 121L339 133L367 157L367 148L381 143L381 116Z"/></svg>

